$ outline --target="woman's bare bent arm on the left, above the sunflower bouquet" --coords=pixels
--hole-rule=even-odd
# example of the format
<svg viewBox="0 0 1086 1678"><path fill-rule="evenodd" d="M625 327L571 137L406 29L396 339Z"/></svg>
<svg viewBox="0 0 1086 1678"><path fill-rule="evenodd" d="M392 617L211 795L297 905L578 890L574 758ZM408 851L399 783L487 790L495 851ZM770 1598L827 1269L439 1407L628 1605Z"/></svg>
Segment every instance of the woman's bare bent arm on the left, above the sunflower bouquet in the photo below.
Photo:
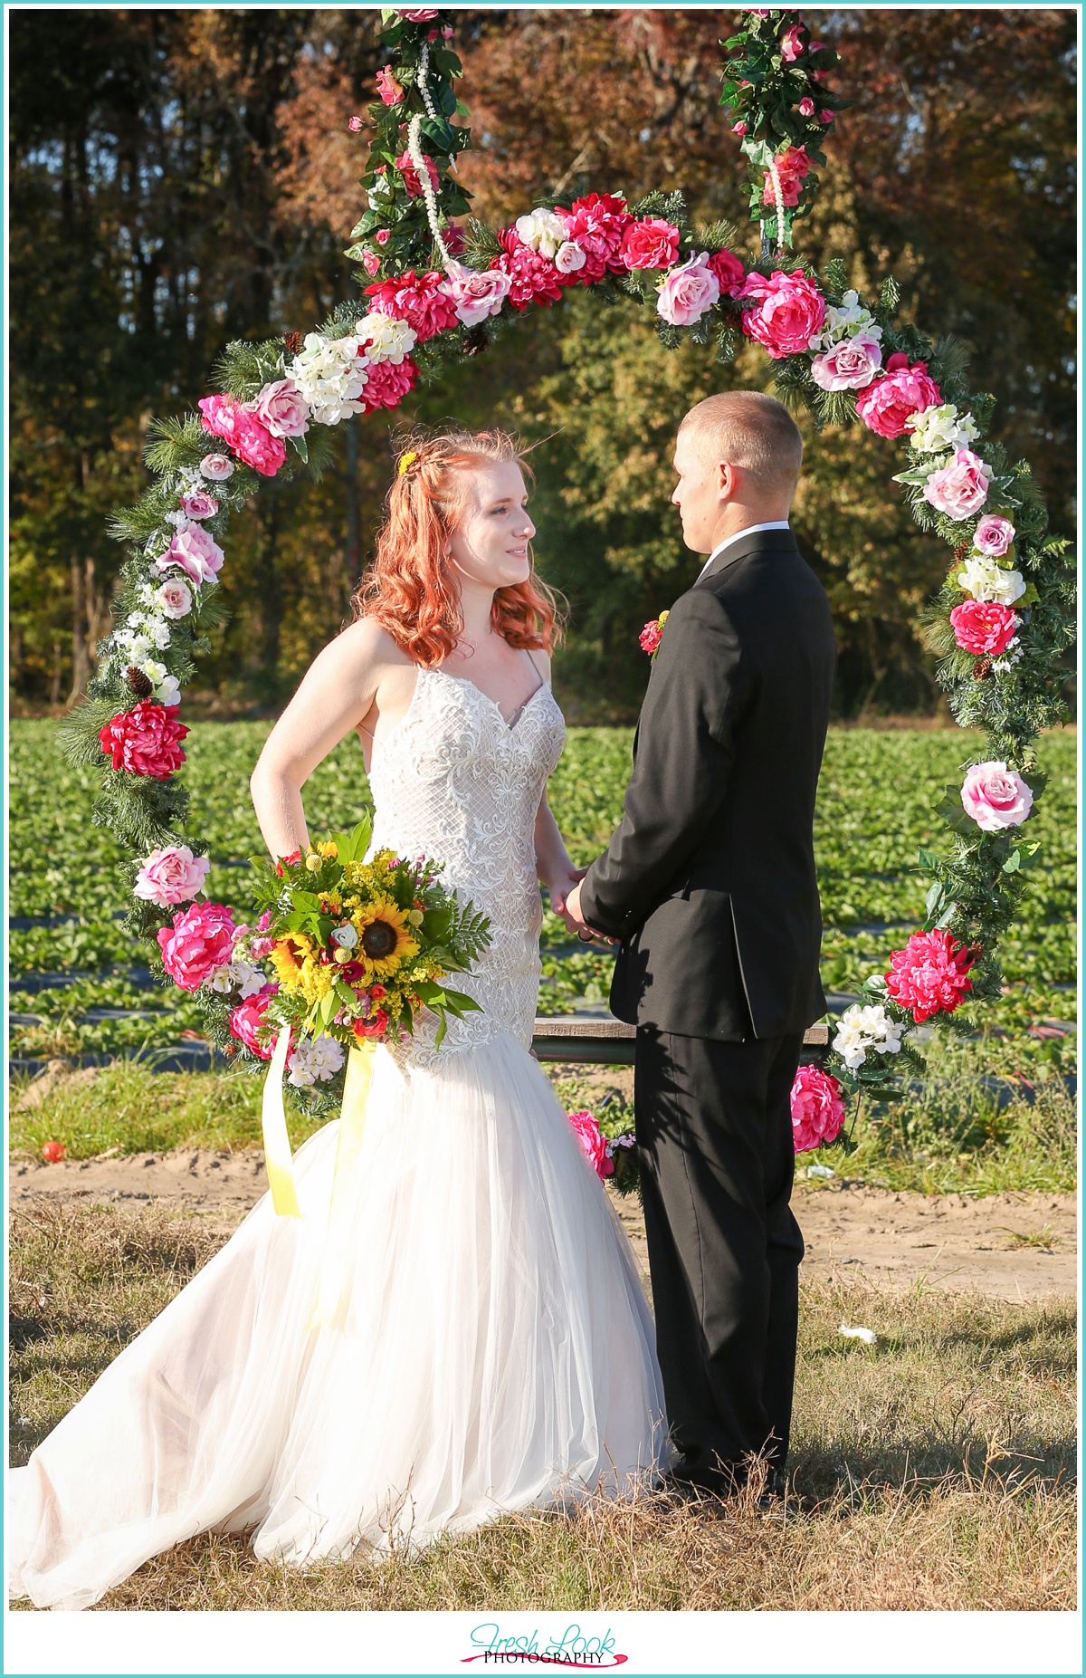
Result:
<svg viewBox="0 0 1086 1678"><path fill-rule="evenodd" d="M325 646L265 740L250 792L273 857L308 844L302 787L370 710L385 668L385 631L362 618Z"/></svg>

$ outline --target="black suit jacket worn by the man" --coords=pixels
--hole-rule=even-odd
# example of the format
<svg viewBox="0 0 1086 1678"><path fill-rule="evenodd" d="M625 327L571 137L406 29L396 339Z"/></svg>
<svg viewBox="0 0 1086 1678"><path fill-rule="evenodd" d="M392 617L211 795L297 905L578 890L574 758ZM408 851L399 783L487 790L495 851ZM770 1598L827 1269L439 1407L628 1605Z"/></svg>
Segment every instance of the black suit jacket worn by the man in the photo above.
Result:
<svg viewBox="0 0 1086 1678"><path fill-rule="evenodd" d="M825 1012L811 839L836 646L791 530L726 547L672 607L622 824L582 884L620 1020L741 1042Z"/></svg>

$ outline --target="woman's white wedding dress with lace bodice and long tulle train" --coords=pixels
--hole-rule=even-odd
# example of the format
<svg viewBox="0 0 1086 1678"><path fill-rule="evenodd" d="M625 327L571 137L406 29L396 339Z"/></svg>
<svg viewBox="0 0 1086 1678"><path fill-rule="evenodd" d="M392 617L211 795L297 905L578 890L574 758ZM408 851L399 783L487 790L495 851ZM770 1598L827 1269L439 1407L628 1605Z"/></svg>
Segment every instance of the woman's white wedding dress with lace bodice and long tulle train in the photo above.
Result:
<svg viewBox="0 0 1086 1678"><path fill-rule="evenodd" d="M426 852L491 916L483 1014L379 1049L342 1331L313 1329L339 1121L10 1475L12 1592L87 1608L151 1556L255 1527L261 1557L387 1554L665 1468L630 1243L528 1054L535 817L565 730L421 670L375 748L374 849ZM429 1020L422 1015L422 1020Z"/></svg>

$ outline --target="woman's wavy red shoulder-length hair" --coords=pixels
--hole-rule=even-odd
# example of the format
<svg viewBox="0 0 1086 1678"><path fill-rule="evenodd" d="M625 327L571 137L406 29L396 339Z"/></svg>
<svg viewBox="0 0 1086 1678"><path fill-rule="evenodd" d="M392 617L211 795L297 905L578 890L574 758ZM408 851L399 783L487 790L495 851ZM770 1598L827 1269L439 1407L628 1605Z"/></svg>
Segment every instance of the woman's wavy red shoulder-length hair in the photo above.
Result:
<svg viewBox="0 0 1086 1678"><path fill-rule="evenodd" d="M397 448L377 557L350 597L350 612L375 618L416 664L442 664L464 633L446 544L468 500L466 473L489 460L530 470L516 440L499 430L449 426L414 433ZM555 648L561 634L555 596L535 564L525 582L496 591L491 624L509 646Z"/></svg>

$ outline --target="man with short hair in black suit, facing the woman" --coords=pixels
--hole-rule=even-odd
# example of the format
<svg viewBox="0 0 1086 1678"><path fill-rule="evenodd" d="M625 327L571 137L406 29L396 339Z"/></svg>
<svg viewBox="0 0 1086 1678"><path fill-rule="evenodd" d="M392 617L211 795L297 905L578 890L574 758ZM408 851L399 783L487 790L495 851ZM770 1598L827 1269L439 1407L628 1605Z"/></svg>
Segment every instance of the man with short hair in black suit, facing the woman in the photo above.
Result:
<svg viewBox="0 0 1086 1678"><path fill-rule="evenodd" d="M789 1091L826 1007L811 824L836 659L788 524L801 458L773 396L709 396L682 421L672 502L709 557L664 626L622 824L566 903L582 936L620 943L674 1478L712 1492L752 1453L779 1490L791 1423Z"/></svg>

